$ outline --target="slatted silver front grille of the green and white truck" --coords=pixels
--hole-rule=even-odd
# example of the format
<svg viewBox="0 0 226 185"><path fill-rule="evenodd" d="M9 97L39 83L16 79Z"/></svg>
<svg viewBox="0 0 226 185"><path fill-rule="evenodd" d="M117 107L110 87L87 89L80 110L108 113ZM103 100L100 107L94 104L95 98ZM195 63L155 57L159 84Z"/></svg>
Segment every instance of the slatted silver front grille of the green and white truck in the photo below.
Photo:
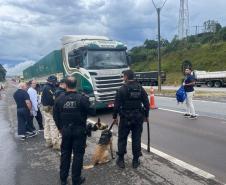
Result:
<svg viewBox="0 0 226 185"><path fill-rule="evenodd" d="M122 76L102 76L95 78L96 83L96 100L113 101L116 91L122 86Z"/></svg>

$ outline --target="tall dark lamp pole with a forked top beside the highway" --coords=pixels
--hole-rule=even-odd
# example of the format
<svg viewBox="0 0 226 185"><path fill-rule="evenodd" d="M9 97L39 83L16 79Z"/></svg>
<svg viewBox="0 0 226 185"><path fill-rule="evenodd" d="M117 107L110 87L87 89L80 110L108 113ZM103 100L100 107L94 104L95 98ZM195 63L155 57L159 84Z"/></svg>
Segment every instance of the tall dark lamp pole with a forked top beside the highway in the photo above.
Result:
<svg viewBox="0 0 226 185"><path fill-rule="evenodd" d="M161 79L161 31L160 31L160 13L162 8L164 7L165 3L167 0L164 1L164 3L162 4L162 6L157 6L157 4L154 2L154 0L152 0L152 3L157 11L157 15L158 15L158 91L161 92L161 85L162 85L162 79Z"/></svg>

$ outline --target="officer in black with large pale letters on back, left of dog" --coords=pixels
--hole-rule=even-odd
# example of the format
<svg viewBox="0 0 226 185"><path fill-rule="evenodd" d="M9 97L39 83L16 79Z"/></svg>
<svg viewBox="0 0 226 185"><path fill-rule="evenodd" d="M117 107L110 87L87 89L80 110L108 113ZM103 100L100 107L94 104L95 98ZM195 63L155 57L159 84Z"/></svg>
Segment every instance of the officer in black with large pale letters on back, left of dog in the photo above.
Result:
<svg viewBox="0 0 226 185"><path fill-rule="evenodd" d="M67 184L73 151L72 184L78 185L85 181L81 177L83 156L86 146L86 119L90 112L88 97L75 90L74 77L66 78L66 92L55 102L53 117L57 128L62 133L60 179L61 185Z"/></svg>

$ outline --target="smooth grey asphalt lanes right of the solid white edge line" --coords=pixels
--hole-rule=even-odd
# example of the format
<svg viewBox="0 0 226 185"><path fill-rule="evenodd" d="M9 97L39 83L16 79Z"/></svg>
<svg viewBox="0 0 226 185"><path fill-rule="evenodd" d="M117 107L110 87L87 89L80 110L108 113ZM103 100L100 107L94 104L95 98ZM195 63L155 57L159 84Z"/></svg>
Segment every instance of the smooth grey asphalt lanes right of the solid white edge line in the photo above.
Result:
<svg viewBox="0 0 226 185"><path fill-rule="evenodd" d="M151 111L151 146L205 170L226 183L226 119L223 119L226 118L226 104L195 101L199 117L189 120L183 117L184 108L178 108L174 99L160 97L156 100L159 107L177 109L181 113ZM108 124L112 120L111 111L101 111L97 116ZM146 129L144 124L144 144L147 143Z"/></svg>

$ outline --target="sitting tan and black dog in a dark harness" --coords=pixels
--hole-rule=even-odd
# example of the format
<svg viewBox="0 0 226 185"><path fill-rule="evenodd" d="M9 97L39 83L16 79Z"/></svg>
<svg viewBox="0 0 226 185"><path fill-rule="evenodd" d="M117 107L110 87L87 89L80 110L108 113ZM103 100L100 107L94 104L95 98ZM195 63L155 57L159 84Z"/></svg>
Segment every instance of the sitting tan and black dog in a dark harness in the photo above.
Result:
<svg viewBox="0 0 226 185"><path fill-rule="evenodd" d="M84 169L93 168L95 165L108 163L109 159L109 150L111 153L111 158L114 159L113 156L113 147L112 147L112 132L111 129L115 123L113 122L109 128L101 124L100 119L98 118L98 122L95 124L99 130L103 130L101 132L101 136L98 144L96 145L94 154L92 156L92 164L88 166L84 166ZM94 125L94 126L95 126Z"/></svg>

